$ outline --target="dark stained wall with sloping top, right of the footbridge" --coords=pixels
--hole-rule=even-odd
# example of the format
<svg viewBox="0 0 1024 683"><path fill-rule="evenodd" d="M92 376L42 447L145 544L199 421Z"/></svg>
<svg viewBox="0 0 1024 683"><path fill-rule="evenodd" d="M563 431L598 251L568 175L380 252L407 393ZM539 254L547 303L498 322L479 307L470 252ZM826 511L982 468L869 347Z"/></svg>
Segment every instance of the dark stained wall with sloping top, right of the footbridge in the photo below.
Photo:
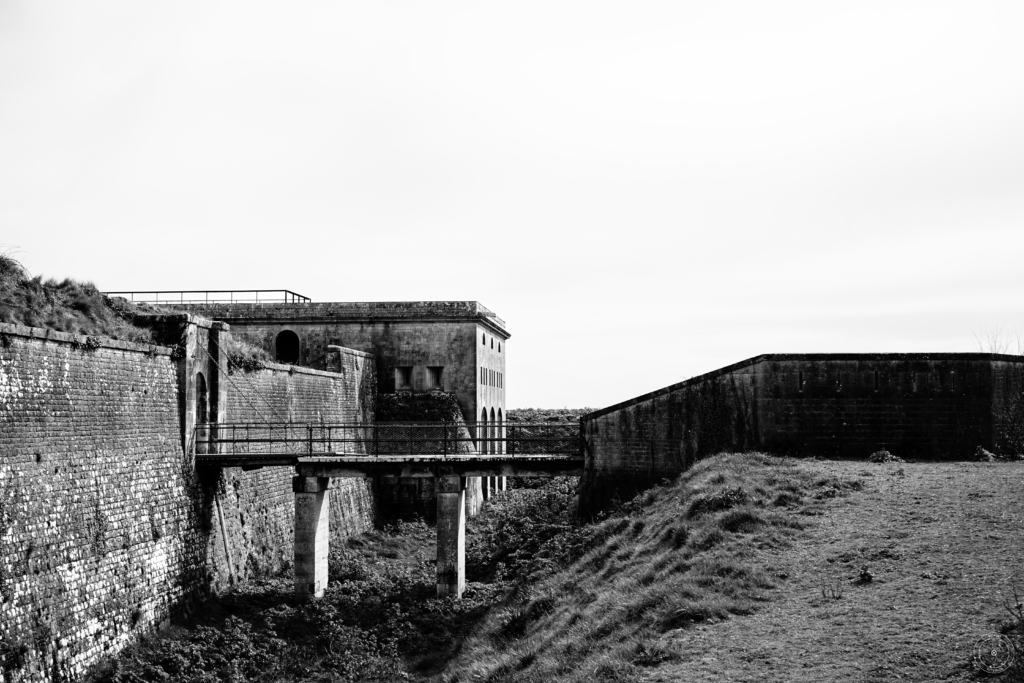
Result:
<svg viewBox="0 0 1024 683"><path fill-rule="evenodd" d="M1024 453L1022 376L1024 358L988 353L757 356L585 416L581 513L722 451Z"/></svg>

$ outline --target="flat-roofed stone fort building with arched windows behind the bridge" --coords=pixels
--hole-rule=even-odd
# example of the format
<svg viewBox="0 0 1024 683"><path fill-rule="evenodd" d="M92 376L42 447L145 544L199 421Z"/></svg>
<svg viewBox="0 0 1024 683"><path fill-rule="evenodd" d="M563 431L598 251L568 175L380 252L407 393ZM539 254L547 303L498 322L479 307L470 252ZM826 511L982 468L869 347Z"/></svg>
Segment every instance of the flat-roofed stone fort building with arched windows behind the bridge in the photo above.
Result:
<svg viewBox="0 0 1024 683"><path fill-rule="evenodd" d="M231 334L268 351L275 361L338 372L346 350L372 354L377 392L444 391L459 402L480 453L503 450L506 420L505 357L511 336L476 301L185 303L176 307L226 323ZM504 478L472 480L469 512ZM378 482L377 497L391 514L432 519L434 481Z"/></svg>

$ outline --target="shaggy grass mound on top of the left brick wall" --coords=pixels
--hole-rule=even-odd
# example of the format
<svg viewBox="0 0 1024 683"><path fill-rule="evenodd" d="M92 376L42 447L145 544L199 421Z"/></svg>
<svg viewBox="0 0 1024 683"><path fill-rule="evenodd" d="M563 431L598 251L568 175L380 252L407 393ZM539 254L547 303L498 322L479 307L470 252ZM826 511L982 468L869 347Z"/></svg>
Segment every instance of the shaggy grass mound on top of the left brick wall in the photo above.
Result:
<svg viewBox="0 0 1024 683"><path fill-rule="evenodd" d="M15 259L0 255L0 323L153 343L150 330L132 324L134 311L92 283L31 278Z"/></svg>

